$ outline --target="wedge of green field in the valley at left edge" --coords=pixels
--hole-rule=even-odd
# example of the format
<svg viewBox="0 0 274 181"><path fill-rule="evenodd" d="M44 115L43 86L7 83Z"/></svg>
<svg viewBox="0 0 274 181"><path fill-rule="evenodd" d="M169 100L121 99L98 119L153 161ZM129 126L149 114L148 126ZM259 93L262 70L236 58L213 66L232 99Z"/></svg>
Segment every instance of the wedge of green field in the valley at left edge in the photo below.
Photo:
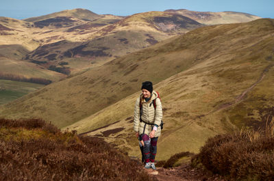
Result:
<svg viewBox="0 0 274 181"><path fill-rule="evenodd" d="M44 85L24 83L18 81L0 80L0 105L16 100L30 92L34 92Z"/></svg>

